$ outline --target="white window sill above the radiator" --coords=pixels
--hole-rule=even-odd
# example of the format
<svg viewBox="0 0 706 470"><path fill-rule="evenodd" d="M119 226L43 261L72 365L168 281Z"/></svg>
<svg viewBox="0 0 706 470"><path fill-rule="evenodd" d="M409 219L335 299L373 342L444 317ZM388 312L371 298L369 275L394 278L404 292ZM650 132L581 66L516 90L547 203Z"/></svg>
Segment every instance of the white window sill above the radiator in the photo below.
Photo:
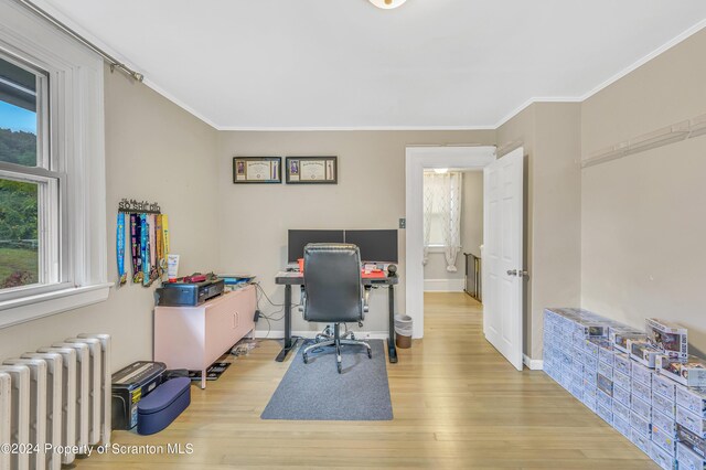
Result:
<svg viewBox="0 0 706 470"><path fill-rule="evenodd" d="M0 328L103 302L108 299L110 287L113 284L74 287L1 302Z"/></svg>

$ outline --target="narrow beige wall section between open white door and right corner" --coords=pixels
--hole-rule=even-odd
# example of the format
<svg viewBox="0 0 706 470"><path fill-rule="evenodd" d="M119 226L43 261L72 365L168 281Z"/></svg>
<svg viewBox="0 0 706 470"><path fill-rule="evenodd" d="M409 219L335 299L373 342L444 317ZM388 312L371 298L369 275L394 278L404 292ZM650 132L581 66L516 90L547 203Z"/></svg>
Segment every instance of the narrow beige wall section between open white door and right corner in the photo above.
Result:
<svg viewBox="0 0 706 470"><path fill-rule="evenodd" d="M498 129L522 142L525 181L525 354L542 357L543 311L580 296L580 105L536 103Z"/></svg>

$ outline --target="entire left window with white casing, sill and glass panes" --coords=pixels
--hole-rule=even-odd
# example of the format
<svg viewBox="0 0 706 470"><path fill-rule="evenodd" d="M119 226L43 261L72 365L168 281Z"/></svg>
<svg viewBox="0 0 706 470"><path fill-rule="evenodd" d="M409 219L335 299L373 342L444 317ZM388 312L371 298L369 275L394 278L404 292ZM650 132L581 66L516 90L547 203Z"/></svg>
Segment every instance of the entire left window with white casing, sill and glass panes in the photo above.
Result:
<svg viewBox="0 0 706 470"><path fill-rule="evenodd" d="M0 328L107 298L103 67L0 3Z"/></svg>

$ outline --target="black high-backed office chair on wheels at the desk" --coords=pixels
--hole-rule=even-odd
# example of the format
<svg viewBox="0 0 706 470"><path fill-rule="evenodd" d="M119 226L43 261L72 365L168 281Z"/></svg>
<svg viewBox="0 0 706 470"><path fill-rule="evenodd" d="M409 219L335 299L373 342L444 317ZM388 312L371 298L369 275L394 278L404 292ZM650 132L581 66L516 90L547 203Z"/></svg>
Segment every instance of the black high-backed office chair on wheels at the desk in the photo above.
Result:
<svg viewBox="0 0 706 470"><path fill-rule="evenodd" d="M361 281L361 253L355 245L341 243L311 243L304 247L304 286L301 310L304 320L333 323L317 335L315 343L304 349L304 364L309 352L324 346L335 346L336 367L341 364L341 346L362 345L373 357L371 345L355 340L352 331L341 335L341 323L357 322L363 325L367 311L370 290ZM347 330L347 329L346 329Z"/></svg>

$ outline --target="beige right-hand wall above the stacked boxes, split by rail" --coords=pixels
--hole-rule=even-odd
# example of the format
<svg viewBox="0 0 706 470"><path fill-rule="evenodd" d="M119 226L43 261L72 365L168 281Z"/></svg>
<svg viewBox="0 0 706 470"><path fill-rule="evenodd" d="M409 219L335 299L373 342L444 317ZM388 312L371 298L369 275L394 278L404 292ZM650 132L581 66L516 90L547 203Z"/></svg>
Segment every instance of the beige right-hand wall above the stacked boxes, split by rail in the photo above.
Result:
<svg viewBox="0 0 706 470"><path fill-rule="evenodd" d="M706 113L706 31L587 99L582 152ZM642 327L689 328L706 352L706 137L582 170L581 303Z"/></svg>

